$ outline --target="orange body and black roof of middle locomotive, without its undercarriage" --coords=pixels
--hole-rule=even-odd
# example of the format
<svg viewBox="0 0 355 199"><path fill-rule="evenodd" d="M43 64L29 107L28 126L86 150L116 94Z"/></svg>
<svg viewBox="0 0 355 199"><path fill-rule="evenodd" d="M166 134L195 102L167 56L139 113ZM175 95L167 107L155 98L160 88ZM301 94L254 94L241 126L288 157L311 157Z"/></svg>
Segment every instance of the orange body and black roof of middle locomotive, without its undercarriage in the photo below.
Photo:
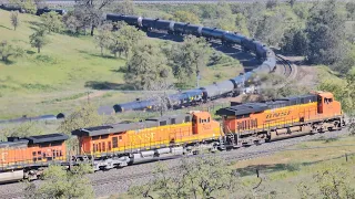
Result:
<svg viewBox="0 0 355 199"><path fill-rule="evenodd" d="M139 123L82 128L72 134L79 138L80 154L100 157L217 140L221 128L210 113L193 112Z"/></svg>

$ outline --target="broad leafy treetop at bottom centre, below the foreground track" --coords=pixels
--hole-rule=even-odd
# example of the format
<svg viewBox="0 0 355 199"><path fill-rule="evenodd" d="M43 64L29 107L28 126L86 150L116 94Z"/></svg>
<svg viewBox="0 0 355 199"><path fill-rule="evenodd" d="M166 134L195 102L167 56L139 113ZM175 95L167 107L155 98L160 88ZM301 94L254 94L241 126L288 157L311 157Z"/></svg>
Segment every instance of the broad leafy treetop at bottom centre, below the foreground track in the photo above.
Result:
<svg viewBox="0 0 355 199"><path fill-rule="evenodd" d="M245 197L241 191L245 187L240 182L239 174L225 160L212 156L183 158L181 163L174 175L170 175L171 170L165 165L158 165L153 180L132 187L129 195L150 198Z"/></svg>

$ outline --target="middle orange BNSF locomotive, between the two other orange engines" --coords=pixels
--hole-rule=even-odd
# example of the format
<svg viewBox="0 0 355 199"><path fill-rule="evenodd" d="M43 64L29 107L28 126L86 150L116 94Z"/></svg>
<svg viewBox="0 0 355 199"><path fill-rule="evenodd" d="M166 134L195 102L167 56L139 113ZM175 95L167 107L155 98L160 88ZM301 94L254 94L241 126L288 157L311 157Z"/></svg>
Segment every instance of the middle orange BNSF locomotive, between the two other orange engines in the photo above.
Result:
<svg viewBox="0 0 355 199"><path fill-rule="evenodd" d="M207 112L150 118L144 122L82 128L79 138L82 157L94 157L94 168L110 169L182 155L197 143L212 146L222 136L220 123ZM189 149L187 149L189 150Z"/></svg>

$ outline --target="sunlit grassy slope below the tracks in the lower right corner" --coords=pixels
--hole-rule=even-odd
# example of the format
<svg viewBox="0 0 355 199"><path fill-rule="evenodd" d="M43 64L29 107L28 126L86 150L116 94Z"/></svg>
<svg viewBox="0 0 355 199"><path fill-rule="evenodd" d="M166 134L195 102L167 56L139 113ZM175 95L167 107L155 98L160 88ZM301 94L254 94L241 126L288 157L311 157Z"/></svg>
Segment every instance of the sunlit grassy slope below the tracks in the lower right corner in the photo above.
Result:
<svg viewBox="0 0 355 199"><path fill-rule="evenodd" d="M258 168L260 174L266 177L263 182L264 192L274 191L276 192L275 198L300 198L297 185L302 181L311 182L313 175L324 167L336 165L347 169L352 176L355 175L354 143L355 137L347 136L337 139L321 138L290 147L290 149L298 150L281 151L267 157L239 161L235 166L246 185L257 185L255 170ZM345 160L345 154L349 155L348 161ZM354 178L352 182L354 185ZM263 195L258 193L258 196Z"/></svg>

